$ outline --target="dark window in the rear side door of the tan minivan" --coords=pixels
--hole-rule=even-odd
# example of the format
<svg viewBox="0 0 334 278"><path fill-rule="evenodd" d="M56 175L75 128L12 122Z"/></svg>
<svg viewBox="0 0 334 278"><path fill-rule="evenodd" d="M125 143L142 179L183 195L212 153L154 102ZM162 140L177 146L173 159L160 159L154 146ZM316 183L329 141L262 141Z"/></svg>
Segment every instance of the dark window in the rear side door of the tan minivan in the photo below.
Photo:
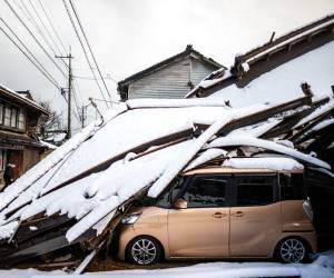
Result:
<svg viewBox="0 0 334 278"><path fill-rule="evenodd" d="M237 206L264 206L274 202L274 176L237 178Z"/></svg>

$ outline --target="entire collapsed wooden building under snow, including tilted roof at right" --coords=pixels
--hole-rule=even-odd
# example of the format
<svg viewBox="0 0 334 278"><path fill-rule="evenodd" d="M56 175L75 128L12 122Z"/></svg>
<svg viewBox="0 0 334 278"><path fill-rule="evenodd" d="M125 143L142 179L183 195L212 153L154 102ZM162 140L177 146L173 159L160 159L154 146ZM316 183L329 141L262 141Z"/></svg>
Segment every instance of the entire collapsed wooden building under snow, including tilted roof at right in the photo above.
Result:
<svg viewBox="0 0 334 278"><path fill-rule="evenodd" d="M317 34L323 43L316 46L322 47L291 56L286 67L297 69L299 59L306 54L307 60L316 59L318 52L332 64L333 17L295 34L315 38L316 27L325 30ZM273 57L267 47L262 53ZM242 61L242 72L252 73L250 61ZM294 71L286 71L291 82L278 79L276 86L279 67L273 67L267 76L253 76L238 95L236 81L244 76L234 73L236 68L209 75L188 96L199 98L134 99L118 105L8 187L0 195L2 264L72 248L79 250L80 260L73 266L80 272L98 250L111 246L115 229L134 201L157 198L180 172L222 165L242 168L240 161L248 158L262 158L263 167L271 168L265 158L273 156L288 157L305 168L320 246L330 248L334 235L334 221L328 220L334 212L333 71L328 75L325 66L317 68L317 75L323 70L324 76L306 80L312 87L303 82L299 88L305 80Z"/></svg>

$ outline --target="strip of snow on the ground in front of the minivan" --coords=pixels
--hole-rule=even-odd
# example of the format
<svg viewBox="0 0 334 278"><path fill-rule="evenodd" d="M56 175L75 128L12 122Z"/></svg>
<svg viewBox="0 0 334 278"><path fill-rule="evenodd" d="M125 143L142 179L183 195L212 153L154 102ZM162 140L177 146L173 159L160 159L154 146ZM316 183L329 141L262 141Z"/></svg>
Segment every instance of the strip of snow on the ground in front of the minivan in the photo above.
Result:
<svg viewBox="0 0 334 278"><path fill-rule="evenodd" d="M0 277L6 278L249 278L249 277L302 277L302 278L333 278L334 277L334 250L320 254L312 264L278 264L278 262L206 262L190 267L178 267L155 270L116 270L101 272L86 272L79 275L68 275L62 271L38 271L28 270L0 270Z"/></svg>

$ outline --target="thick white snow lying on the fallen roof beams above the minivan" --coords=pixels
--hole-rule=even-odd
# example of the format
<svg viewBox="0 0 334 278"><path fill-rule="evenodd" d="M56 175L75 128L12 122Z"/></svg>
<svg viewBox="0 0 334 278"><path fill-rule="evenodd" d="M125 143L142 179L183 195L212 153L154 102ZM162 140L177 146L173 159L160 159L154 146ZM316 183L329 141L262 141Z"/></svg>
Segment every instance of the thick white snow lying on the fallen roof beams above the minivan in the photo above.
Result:
<svg viewBox="0 0 334 278"><path fill-rule="evenodd" d="M102 122L82 130L0 193L0 238L19 232L19 225L42 215L72 219L63 232L69 244L81 240L88 230L99 237L125 203L144 193L157 197L184 170L217 159L220 163L227 156L232 158L223 167L249 166L250 158L233 158L237 150L243 152L230 150L234 146L254 146L255 152L269 149L330 169L326 162L293 146L257 139L282 122L291 102L233 109L223 101L200 101L138 100L108 112ZM304 106L299 99L294 101ZM253 152L248 148L244 153ZM254 158L252 167L302 169L292 158Z"/></svg>

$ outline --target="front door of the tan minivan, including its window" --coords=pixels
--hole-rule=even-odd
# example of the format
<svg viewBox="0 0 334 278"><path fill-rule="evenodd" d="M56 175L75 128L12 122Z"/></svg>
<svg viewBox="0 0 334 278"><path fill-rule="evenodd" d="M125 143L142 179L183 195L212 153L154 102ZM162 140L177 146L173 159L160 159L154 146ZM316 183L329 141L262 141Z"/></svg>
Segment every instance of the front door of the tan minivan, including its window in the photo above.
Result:
<svg viewBox="0 0 334 278"><path fill-rule="evenodd" d="M229 207L228 176L200 175L188 182L177 198L185 209L168 211L170 257L228 256Z"/></svg>

